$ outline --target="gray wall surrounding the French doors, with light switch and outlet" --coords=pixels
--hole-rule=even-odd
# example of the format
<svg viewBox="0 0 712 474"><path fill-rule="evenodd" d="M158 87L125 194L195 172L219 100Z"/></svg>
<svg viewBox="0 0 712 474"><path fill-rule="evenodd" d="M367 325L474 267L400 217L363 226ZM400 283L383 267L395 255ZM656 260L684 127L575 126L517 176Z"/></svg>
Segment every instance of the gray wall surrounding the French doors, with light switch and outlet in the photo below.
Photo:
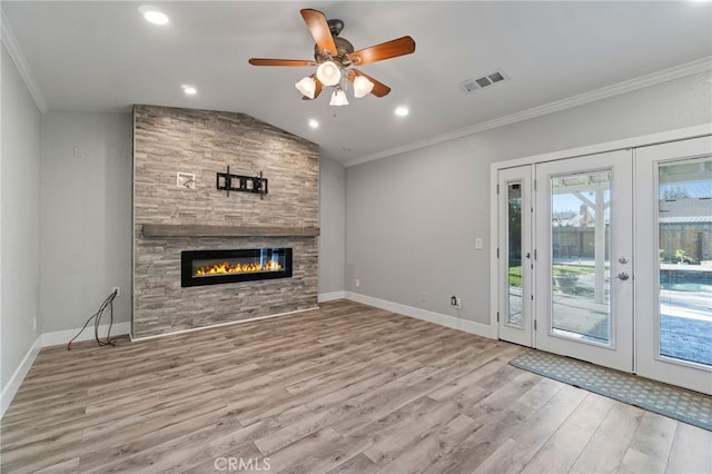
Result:
<svg viewBox="0 0 712 474"><path fill-rule="evenodd" d="M346 289L488 325L490 165L710 124L711 81L700 73L347 168Z"/></svg>

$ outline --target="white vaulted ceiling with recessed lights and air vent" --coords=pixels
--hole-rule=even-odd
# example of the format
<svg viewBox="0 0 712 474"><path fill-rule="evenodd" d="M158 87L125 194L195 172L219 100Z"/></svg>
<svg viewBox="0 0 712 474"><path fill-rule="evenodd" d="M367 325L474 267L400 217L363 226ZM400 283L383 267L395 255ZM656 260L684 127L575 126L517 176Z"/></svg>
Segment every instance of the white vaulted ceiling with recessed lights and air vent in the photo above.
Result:
<svg viewBox="0 0 712 474"><path fill-rule="evenodd" d="M614 86L621 82L650 83L670 68L660 77L712 68L710 2L157 1L170 18L164 27L147 23L141 4L2 1L49 109L150 103L244 112L353 164L552 102L581 102L593 90L623 90ZM343 20L340 36L356 49L412 36L415 53L359 68L390 95L354 99L349 90L349 106L330 107L328 93L305 101L294 88L313 68L249 66L250 57L313 58L300 8ZM512 80L472 95L459 89L496 69ZM186 97L182 83L198 95ZM400 105L409 116L394 115ZM318 129L308 127L312 118Z"/></svg>

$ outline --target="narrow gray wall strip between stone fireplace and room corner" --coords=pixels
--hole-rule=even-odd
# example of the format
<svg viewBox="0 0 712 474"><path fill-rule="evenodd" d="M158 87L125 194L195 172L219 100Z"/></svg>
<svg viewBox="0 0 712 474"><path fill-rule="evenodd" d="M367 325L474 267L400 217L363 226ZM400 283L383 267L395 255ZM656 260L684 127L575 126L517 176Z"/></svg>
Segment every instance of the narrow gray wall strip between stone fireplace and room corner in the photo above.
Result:
<svg viewBox="0 0 712 474"><path fill-rule="evenodd" d="M344 290L346 170L319 159L319 295Z"/></svg>

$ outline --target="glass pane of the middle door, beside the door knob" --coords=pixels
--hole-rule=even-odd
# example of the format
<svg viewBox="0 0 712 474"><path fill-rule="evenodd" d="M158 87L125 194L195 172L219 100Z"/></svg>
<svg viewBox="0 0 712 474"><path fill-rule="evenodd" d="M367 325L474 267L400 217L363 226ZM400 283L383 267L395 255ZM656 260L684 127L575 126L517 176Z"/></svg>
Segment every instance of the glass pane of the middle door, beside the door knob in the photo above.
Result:
<svg viewBox="0 0 712 474"><path fill-rule="evenodd" d="M611 345L611 172L551 179L553 334Z"/></svg>

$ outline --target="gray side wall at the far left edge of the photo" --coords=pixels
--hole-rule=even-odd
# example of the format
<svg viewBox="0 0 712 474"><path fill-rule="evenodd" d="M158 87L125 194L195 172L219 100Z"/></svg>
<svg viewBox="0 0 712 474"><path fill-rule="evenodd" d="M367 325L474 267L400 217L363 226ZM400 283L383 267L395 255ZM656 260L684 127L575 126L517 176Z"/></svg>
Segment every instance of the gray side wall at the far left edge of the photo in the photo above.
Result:
<svg viewBox="0 0 712 474"><path fill-rule="evenodd" d="M2 47L0 384L37 340L40 297L40 111ZM39 322L38 322L39 325Z"/></svg>

